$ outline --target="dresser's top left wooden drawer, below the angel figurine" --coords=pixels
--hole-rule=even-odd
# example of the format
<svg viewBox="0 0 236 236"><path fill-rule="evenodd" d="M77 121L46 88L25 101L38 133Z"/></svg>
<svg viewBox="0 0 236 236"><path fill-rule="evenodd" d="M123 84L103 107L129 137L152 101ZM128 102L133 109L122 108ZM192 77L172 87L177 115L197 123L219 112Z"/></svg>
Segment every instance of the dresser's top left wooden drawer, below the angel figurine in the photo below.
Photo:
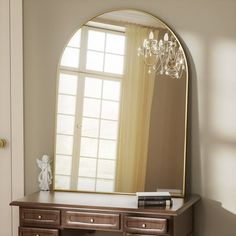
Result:
<svg viewBox="0 0 236 236"><path fill-rule="evenodd" d="M22 208L20 220L22 225L58 226L60 225L60 211Z"/></svg>

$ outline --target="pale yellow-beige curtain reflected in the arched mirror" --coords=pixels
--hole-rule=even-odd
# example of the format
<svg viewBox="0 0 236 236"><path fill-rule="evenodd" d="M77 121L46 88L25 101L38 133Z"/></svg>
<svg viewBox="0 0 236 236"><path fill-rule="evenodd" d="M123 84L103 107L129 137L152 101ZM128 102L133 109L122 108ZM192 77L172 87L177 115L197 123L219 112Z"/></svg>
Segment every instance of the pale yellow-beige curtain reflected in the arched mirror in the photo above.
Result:
<svg viewBox="0 0 236 236"><path fill-rule="evenodd" d="M149 28L126 26L126 67L122 82L122 105L119 129L116 191L144 191L150 113L154 89L154 74L147 67L137 49L148 37ZM155 32L157 36L158 32Z"/></svg>

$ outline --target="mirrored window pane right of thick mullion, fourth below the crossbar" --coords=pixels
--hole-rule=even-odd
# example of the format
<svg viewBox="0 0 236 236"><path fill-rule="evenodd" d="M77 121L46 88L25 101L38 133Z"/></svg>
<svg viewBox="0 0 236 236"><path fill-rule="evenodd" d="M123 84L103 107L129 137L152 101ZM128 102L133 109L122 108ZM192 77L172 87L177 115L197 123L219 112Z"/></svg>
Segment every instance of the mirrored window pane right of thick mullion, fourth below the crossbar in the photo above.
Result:
<svg viewBox="0 0 236 236"><path fill-rule="evenodd" d="M80 156L97 157L98 140L91 138L81 138Z"/></svg>

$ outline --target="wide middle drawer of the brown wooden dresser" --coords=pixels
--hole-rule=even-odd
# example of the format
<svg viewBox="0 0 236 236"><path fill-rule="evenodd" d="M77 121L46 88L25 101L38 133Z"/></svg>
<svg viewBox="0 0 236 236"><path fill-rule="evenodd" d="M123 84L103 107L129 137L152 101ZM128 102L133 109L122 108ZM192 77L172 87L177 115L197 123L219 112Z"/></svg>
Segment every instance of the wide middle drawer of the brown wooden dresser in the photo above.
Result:
<svg viewBox="0 0 236 236"><path fill-rule="evenodd" d="M120 229L120 215L107 213L90 213L78 211L62 212L63 227L80 229Z"/></svg>

